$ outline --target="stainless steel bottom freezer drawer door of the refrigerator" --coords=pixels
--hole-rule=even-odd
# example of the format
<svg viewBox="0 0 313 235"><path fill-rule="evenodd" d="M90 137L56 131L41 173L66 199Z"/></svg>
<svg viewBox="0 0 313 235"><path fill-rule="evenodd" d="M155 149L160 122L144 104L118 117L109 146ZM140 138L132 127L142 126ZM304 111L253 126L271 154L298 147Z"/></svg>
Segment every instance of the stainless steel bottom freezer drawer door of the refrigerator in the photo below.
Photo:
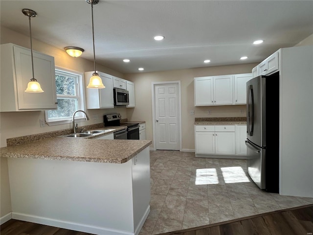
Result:
<svg viewBox="0 0 313 235"><path fill-rule="evenodd" d="M265 189L265 153L266 150L246 140L247 169L253 182Z"/></svg>

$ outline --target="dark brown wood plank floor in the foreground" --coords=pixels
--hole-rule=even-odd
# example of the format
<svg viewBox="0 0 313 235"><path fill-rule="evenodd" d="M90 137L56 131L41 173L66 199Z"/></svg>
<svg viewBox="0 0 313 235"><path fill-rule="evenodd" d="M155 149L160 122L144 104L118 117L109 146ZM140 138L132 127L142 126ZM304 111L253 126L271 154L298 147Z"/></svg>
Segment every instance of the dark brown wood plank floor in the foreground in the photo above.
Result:
<svg viewBox="0 0 313 235"><path fill-rule="evenodd" d="M1 235L90 235L11 219ZM313 235L313 204L233 219L162 235Z"/></svg>

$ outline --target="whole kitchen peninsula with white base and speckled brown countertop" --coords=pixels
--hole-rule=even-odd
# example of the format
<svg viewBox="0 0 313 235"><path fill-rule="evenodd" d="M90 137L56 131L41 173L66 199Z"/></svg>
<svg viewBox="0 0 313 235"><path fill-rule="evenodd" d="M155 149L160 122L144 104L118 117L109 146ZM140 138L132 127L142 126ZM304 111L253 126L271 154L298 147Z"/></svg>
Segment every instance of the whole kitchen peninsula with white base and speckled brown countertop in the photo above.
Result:
<svg viewBox="0 0 313 235"><path fill-rule="evenodd" d="M12 218L137 235L150 211L151 141L55 137L1 148Z"/></svg>

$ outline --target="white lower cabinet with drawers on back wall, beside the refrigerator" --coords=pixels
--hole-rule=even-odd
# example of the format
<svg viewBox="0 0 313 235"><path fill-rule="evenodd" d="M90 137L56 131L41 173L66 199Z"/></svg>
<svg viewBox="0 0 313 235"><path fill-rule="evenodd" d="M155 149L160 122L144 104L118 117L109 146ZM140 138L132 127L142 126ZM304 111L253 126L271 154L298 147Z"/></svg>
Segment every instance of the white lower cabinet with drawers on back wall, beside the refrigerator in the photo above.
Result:
<svg viewBox="0 0 313 235"><path fill-rule="evenodd" d="M196 157L246 155L245 138L246 125L195 125Z"/></svg>

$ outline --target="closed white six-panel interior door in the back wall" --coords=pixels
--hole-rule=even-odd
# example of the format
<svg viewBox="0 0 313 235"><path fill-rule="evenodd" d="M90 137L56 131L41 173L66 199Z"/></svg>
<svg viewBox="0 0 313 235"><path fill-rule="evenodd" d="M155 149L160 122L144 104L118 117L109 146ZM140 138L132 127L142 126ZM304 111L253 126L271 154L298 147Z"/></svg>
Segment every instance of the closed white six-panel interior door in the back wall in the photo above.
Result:
<svg viewBox="0 0 313 235"><path fill-rule="evenodd" d="M179 85L155 85L156 149L180 150Z"/></svg>

